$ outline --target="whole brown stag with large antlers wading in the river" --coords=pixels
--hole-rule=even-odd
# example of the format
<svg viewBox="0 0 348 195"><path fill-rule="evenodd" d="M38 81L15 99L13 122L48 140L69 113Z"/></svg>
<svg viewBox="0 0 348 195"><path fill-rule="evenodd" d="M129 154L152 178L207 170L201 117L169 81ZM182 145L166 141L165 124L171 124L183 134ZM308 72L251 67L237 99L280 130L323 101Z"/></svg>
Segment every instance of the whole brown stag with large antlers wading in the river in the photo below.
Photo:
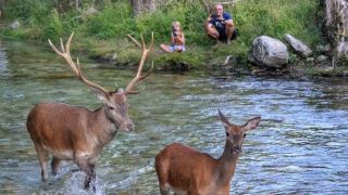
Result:
<svg viewBox="0 0 348 195"><path fill-rule="evenodd" d="M75 63L71 57L73 35L74 32L65 47L61 39L61 51L50 40L49 44L65 60L74 75L97 94L103 105L96 110L89 110L82 106L62 103L39 103L29 112L26 127L39 158L42 181L48 179L48 160L51 154L53 174L57 174L61 160L74 160L79 169L86 172L85 188L92 182L95 190L95 165L102 148L114 138L119 129L124 131L134 129L134 123L128 116L127 95L136 93L133 91L134 87L150 73L141 74L141 70L149 52L153 49L153 32L149 48L146 48L142 36L142 44L129 36L137 46L141 47L141 60L136 76L126 88L115 91L108 91L84 76L78 58Z"/></svg>

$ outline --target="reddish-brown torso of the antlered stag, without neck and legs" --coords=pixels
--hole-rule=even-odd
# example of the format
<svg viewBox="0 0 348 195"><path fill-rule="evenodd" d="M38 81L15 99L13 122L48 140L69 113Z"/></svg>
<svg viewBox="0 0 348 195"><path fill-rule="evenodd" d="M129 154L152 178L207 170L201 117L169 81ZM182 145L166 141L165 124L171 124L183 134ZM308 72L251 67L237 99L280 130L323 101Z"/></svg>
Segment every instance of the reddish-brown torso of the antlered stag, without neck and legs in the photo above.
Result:
<svg viewBox="0 0 348 195"><path fill-rule="evenodd" d="M84 134L85 121L91 112L60 103L40 103L29 112L26 126L35 145L51 151L71 151L77 134ZM87 133L88 134L88 133Z"/></svg>

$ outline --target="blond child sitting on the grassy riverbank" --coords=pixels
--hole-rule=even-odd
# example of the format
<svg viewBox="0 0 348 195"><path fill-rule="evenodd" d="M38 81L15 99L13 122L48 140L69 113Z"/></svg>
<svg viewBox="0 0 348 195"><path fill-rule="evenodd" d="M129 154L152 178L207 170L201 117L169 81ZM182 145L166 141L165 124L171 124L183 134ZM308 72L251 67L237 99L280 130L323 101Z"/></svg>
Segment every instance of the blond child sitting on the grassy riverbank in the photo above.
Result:
<svg viewBox="0 0 348 195"><path fill-rule="evenodd" d="M185 35L182 31L179 22L174 22L172 25L171 46L161 44L161 49L165 52L185 51Z"/></svg>

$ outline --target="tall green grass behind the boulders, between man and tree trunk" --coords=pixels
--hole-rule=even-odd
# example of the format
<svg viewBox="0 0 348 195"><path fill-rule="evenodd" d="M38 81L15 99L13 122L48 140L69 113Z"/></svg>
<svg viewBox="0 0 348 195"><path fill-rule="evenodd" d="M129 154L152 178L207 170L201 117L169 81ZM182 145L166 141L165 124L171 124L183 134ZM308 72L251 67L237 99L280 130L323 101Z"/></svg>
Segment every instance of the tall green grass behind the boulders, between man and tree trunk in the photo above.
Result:
<svg viewBox="0 0 348 195"><path fill-rule="evenodd" d="M239 38L247 46L261 35L282 40L291 34L311 46L322 40L316 23L319 2L314 0L244 0L232 11Z"/></svg>

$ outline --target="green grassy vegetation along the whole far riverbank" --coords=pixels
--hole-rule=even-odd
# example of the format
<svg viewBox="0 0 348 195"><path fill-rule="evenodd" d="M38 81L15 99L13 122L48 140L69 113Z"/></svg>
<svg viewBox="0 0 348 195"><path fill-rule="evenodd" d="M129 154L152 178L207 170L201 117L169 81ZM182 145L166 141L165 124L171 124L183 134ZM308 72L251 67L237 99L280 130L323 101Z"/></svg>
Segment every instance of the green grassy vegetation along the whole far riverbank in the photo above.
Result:
<svg viewBox="0 0 348 195"><path fill-rule="evenodd" d="M69 1L67 1L69 2ZM73 2L73 1L72 1ZM208 16L201 1L163 1L152 13L134 17L128 0L84 1L79 9L62 1L21 0L5 1L2 5L0 34L24 40L47 39L58 41L75 31L74 50L83 50L90 57L116 65L134 65L140 55L127 35L150 39L154 32L156 44L169 42L171 23L179 21L185 31L187 52L166 54L159 47L151 55L158 68L206 68L223 66L248 67L248 51L254 38L268 35L285 40L291 34L315 52L315 47L325 46L322 34L323 8L316 0L240 0L226 5L233 13L239 31L232 46L214 46L203 29ZM94 5L92 5L94 3ZM98 12L90 14L94 6ZM9 25L20 22L18 28ZM227 58L229 56L229 60ZM299 56L293 54L291 62ZM228 61L226 61L228 60Z"/></svg>

